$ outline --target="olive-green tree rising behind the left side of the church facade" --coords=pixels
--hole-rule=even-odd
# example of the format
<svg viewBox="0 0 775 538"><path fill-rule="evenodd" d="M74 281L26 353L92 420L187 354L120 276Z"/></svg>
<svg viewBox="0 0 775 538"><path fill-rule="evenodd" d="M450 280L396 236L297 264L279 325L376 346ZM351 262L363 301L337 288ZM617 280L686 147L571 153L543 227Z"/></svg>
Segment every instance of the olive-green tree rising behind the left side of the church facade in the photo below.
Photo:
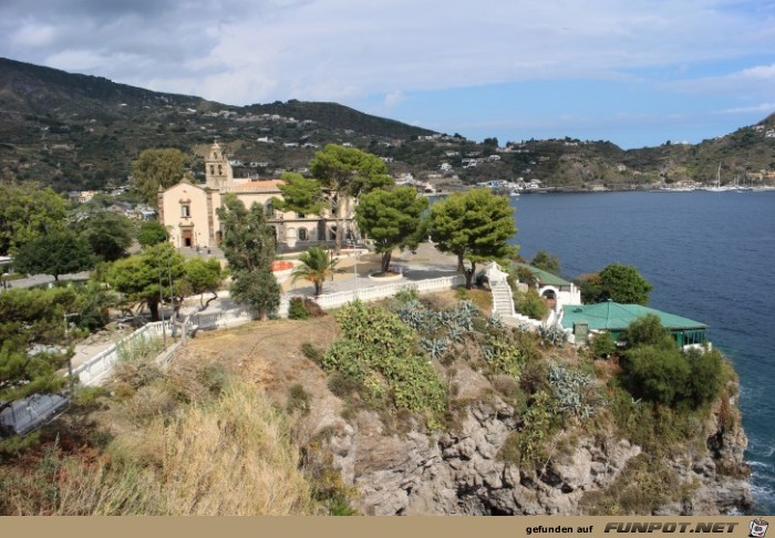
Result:
<svg viewBox="0 0 775 538"><path fill-rule="evenodd" d="M132 162L130 185L146 204L157 205L158 188L169 188L183 178L186 156L175 148L145 149Z"/></svg>

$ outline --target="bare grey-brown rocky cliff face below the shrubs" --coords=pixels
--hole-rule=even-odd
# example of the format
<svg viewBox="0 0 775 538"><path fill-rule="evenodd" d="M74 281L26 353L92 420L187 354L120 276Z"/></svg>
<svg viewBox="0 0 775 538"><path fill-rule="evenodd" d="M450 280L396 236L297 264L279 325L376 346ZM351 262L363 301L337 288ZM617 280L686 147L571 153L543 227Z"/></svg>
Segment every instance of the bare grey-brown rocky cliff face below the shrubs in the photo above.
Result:
<svg viewBox="0 0 775 538"><path fill-rule="evenodd" d="M659 472L643 465L648 454L638 444L588 434L595 428L578 423L556 436L541 465L520 468L504 461L504 444L521 417L492 393L469 401L455 427L441 434L423 432L411 418L407 431L391 433L369 411L349 422L331 417L323 446L343 482L358 492L354 505L364 514L627 514L632 508L622 500L626 495L609 490L632 482L643 484L636 496L657 499L653 514L727 514L748 508L752 498L743 459L747 439L734 396L723 397L696 442L671 451ZM630 474L624 477L626 469ZM660 484L673 487L659 492Z"/></svg>

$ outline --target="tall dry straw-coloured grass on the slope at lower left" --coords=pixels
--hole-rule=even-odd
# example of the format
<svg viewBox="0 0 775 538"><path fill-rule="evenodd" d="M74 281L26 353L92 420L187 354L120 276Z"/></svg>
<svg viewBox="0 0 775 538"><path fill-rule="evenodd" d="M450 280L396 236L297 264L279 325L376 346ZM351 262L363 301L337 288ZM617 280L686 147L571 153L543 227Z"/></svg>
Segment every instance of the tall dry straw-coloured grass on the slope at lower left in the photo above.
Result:
<svg viewBox="0 0 775 538"><path fill-rule="evenodd" d="M190 366L188 366L190 368ZM169 379L164 383L170 386ZM147 387L146 385L145 387ZM151 386L162 386L156 382ZM170 391L179 399L179 392ZM62 455L0 478L14 515L303 515L316 511L289 425L265 394L231 376L120 433L103 454ZM125 408L131 412L130 408Z"/></svg>

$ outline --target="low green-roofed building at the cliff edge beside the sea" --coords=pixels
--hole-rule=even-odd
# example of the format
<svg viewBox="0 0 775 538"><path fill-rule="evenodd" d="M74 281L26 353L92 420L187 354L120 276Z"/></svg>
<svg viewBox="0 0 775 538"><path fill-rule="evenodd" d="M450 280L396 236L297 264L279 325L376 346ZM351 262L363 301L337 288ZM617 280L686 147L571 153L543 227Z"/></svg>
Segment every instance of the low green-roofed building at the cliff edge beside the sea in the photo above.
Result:
<svg viewBox="0 0 775 538"><path fill-rule="evenodd" d="M707 344L707 325L704 323L640 304L620 304L610 300L597 304L566 304L560 324L575 337L576 343L586 341L590 332L602 331L618 340L631 322L648 314L660 319L678 345Z"/></svg>

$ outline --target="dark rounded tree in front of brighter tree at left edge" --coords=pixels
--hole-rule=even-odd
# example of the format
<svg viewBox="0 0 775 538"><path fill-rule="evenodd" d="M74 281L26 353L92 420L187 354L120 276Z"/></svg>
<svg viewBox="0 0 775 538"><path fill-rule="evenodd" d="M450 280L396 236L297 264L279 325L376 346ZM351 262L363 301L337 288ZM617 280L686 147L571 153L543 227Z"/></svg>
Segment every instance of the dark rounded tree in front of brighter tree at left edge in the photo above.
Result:
<svg viewBox="0 0 775 538"><path fill-rule="evenodd" d="M84 271L94 265L89 244L72 231L39 236L23 244L13 260L19 272L60 275Z"/></svg>

